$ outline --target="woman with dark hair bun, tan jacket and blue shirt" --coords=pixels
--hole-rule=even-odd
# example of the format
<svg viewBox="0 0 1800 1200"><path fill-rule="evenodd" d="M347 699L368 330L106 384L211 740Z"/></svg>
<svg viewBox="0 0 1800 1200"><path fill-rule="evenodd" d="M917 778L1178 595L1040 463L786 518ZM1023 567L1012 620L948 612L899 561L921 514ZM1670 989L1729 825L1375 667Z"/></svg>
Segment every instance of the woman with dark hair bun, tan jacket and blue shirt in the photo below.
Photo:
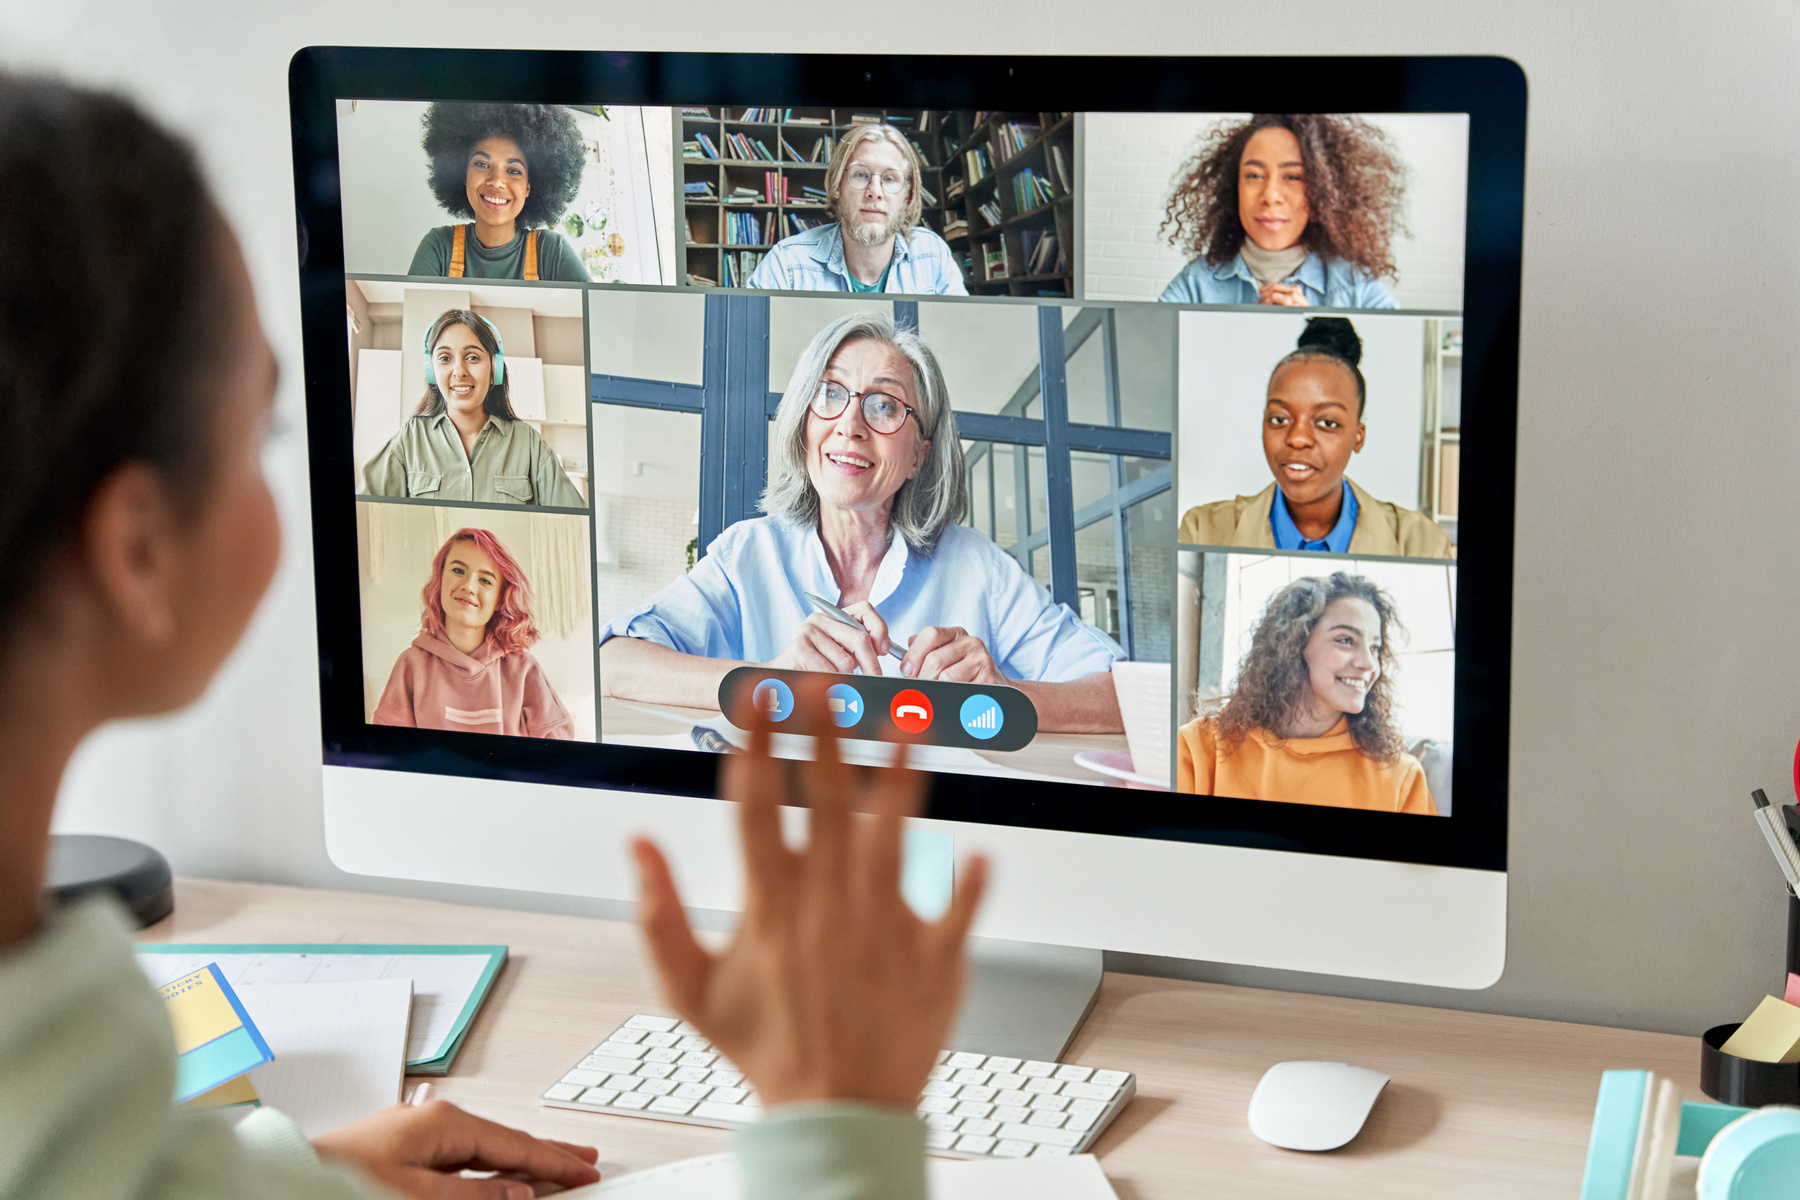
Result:
<svg viewBox="0 0 1800 1200"><path fill-rule="evenodd" d="M1363 338L1343 317L1312 317L1269 374L1262 452L1274 482L1253 497L1188 509L1177 542L1267 551L1456 558L1424 513L1377 500L1345 471L1363 450Z"/></svg>

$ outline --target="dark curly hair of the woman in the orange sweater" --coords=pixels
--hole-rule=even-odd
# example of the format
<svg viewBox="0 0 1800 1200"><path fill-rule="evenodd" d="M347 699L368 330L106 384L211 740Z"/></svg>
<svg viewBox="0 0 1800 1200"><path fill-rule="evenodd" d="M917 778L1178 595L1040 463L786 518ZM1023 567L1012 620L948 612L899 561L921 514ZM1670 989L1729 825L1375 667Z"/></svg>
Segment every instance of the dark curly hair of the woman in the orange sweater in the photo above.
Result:
<svg viewBox="0 0 1800 1200"><path fill-rule="evenodd" d="M1364 576L1334 570L1327 578L1294 579L1269 597L1249 637L1249 649L1238 664L1237 685L1211 714L1219 745L1229 756L1249 736L1262 729L1271 736L1287 729L1305 712L1312 680L1307 671L1305 649L1312 631L1325 617L1327 606L1337 599L1361 599L1381 619L1381 649L1375 664L1381 675L1368 689L1361 712L1346 714L1350 739L1355 748L1377 763L1391 763L1404 743L1393 727L1393 637L1400 633L1400 617L1393 597Z"/></svg>

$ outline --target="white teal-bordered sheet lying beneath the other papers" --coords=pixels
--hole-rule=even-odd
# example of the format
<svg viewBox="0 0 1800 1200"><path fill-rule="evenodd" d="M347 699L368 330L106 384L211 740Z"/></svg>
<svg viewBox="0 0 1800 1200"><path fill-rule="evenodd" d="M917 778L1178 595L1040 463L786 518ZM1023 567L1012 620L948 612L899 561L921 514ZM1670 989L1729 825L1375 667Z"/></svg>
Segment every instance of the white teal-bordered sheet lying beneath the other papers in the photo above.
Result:
<svg viewBox="0 0 1800 1200"><path fill-rule="evenodd" d="M470 993L488 970L481 954L139 954L153 988L218 963L232 988L245 984L331 984L360 979L412 981L407 1061L437 1058Z"/></svg>

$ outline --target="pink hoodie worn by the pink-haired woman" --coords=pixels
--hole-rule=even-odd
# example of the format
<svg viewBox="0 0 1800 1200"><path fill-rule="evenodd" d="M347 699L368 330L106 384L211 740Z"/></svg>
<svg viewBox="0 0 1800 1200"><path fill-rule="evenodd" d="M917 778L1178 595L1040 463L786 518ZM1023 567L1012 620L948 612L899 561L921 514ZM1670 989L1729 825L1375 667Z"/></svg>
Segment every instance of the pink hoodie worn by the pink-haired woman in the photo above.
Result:
<svg viewBox="0 0 1800 1200"><path fill-rule="evenodd" d="M419 633L400 651L382 703L374 705L374 723L513 738L574 736L569 711L531 651L508 655L488 639L470 657L430 633Z"/></svg>

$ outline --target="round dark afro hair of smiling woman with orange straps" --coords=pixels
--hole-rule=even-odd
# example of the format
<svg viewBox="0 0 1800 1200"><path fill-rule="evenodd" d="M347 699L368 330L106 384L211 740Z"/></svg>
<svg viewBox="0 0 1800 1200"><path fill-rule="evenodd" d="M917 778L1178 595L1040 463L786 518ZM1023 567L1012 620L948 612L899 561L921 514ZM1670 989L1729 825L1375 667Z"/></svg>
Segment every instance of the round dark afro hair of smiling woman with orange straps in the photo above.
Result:
<svg viewBox="0 0 1800 1200"><path fill-rule="evenodd" d="M419 121L430 185L450 216L473 219L468 207L468 155L475 142L509 137L526 151L531 194L518 225L551 225L581 189L587 149L569 110L556 104L432 104Z"/></svg>

